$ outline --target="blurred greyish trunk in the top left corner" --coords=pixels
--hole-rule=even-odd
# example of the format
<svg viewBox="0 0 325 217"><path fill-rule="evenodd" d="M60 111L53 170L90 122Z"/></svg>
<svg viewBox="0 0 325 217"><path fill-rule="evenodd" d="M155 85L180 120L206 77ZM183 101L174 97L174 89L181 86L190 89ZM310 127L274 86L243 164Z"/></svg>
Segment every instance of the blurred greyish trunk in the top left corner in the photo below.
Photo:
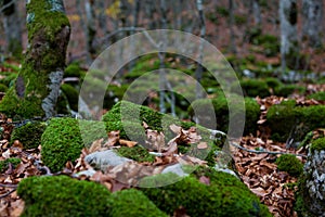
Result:
<svg viewBox="0 0 325 217"><path fill-rule="evenodd" d="M3 27L5 35L5 48L4 51L14 56L22 54L22 29L21 18L17 12L17 5L14 0L4 0L3 10L4 15Z"/></svg>

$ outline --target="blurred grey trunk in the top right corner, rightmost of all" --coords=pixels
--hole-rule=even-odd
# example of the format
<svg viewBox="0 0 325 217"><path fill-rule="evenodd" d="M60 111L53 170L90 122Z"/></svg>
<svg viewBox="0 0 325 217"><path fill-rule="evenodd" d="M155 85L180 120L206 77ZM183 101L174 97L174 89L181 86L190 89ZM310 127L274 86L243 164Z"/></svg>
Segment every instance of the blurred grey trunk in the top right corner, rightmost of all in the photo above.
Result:
<svg viewBox="0 0 325 217"><path fill-rule="evenodd" d="M302 36L313 48L322 44L323 0L302 0Z"/></svg>

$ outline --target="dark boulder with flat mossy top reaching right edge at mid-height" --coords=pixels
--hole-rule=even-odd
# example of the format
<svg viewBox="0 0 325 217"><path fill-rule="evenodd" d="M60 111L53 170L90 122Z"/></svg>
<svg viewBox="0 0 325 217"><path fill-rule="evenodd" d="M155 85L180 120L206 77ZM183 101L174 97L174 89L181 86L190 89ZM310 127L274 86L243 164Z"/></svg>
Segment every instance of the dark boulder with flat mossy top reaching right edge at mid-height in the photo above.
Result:
<svg viewBox="0 0 325 217"><path fill-rule="evenodd" d="M284 101L269 108L266 120L272 139L301 141L309 131L325 127L325 106L297 106L294 100Z"/></svg>

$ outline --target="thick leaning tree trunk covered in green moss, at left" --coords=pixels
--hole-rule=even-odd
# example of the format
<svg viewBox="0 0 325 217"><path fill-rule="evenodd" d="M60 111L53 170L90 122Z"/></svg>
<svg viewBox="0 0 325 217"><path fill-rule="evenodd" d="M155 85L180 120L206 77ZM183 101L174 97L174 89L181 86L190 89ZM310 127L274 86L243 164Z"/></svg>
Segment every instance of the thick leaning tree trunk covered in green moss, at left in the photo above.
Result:
<svg viewBox="0 0 325 217"><path fill-rule="evenodd" d="M28 0L28 49L0 112L20 118L51 117L65 67L70 25L63 0Z"/></svg>

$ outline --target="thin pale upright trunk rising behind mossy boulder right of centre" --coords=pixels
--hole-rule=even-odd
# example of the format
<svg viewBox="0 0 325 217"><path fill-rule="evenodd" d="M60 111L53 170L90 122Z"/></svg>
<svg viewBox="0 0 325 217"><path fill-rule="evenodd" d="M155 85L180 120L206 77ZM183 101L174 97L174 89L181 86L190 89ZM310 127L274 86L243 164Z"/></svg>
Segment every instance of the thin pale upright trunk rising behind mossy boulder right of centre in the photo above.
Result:
<svg viewBox="0 0 325 217"><path fill-rule="evenodd" d="M203 98L203 92L202 92L202 88L200 88L200 79L202 79L202 74L203 74L203 66L202 66L202 62L203 62L203 54L204 54L204 38L206 37L206 21L205 21L205 12L204 12L204 5L202 0L196 0L196 5L197 5L197 11L198 11L198 16L199 16L199 36L202 38L200 42L199 42L199 48L198 48L198 52L199 52L199 56L198 56L198 61L199 63L197 63L197 67L196 67L196 72L195 72L195 77L196 77L196 99L200 99Z"/></svg>

